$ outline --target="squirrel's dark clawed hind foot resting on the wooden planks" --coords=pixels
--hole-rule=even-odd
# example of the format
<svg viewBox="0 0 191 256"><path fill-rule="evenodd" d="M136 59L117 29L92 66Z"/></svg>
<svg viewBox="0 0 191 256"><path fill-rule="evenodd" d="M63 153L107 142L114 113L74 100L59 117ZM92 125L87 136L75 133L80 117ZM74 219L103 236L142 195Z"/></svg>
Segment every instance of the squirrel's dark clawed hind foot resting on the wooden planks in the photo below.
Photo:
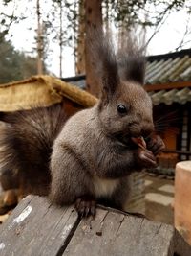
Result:
<svg viewBox="0 0 191 256"><path fill-rule="evenodd" d="M96 200L89 196L77 198L75 201L75 209L80 217L95 216Z"/></svg>

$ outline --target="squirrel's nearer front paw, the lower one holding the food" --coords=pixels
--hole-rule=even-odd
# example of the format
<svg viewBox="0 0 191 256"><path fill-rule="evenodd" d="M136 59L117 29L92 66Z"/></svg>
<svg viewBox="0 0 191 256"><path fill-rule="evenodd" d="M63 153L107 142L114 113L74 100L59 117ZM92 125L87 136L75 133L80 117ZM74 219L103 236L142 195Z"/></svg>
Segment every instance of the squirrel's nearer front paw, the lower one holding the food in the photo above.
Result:
<svg viewBox="0 0 191 256"><path fill-rule="evenodd" d="M154 168L157 166L156 157L152 151L138 149L138 165L141 168Z"/></svg>

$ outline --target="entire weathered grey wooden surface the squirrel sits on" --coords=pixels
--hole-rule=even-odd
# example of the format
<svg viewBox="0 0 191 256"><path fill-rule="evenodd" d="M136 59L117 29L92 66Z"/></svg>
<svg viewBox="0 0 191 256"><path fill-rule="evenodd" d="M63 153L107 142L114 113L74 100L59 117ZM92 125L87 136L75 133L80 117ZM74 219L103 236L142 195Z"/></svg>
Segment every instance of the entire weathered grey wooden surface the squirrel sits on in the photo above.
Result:
<svg viewBox="0 0 191 256"><path fill-rule="evenodd" d="M191 247L167 224L104 208L80 220L74 207L28 196L0 227L0 255L190 256Z"/></svg>

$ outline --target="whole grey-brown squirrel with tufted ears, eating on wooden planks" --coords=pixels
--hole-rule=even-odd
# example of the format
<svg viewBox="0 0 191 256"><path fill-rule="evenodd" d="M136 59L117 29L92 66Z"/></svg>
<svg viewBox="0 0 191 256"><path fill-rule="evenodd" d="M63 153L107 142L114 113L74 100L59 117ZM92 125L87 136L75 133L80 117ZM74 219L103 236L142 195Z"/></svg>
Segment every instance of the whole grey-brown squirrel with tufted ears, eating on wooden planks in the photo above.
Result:
<svg viewBox="0 0 191 256"><path fill-rule="evenodd" d="M19 111L5 118L0 138L1 170L15 170L24 194L75 203L82 216L95 215L96 203L123 210L129 175L155 167L164 147L154 135L152 102L142 87L144 59L129 52L118 64L103 35L93 46L101 87L94 107L67 121L59 105Z"/></svg>

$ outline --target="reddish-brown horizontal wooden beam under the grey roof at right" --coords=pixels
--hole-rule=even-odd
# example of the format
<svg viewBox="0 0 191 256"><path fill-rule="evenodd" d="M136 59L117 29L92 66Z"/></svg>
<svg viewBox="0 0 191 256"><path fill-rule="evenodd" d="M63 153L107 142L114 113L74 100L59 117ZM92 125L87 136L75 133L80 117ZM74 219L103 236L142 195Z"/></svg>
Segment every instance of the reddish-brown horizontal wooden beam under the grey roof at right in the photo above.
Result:
<svg viewBox="0 0 191 256"><path fill-rule="evenodd" d="M170 90L180 89L184 87L191 87L191 81L175 81L169 83L156 83L156 84L145 84L144 89L146 91L159 91L159 90Z"/></svg>

